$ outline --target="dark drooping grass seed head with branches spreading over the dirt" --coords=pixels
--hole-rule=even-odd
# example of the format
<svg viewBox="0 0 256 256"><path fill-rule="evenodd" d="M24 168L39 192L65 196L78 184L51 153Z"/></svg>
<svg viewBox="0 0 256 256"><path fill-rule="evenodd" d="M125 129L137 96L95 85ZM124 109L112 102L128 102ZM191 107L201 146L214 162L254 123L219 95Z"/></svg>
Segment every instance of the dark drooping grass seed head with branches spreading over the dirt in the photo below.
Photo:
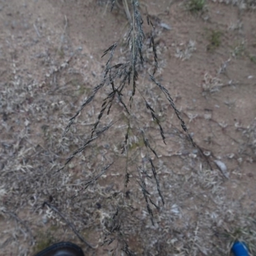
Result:
<svg viewBox="0 0 256 256"><path fill-rule="evenodd" d="M115 2L116 2L115 0L111 1L111 10L115 6ZM98 127L99 127L100 122L102 121L102 118L106 115L109 115L109 113L111 113L111 110L115 106L115 100L117 100L119 106L121 106L123 108L125 116L126 116L126 120L127 120L127 129L124 134L124 141L122 143L122 147L120 148L121 153L125 154L125 157L126 157L125 166L124 166L124 183L123 183L124 187L123 187L123 191L122 191L122 198L120 198L118 200L118 203L116 204L116 211L113 214L112 224L111 224L111 227L109 228L108 233L105 236L104 244L111 244L111 243L113 243L113 241L115 241L115 239L120 239L120 241L122 241L122 243L124 244L124 246L122 247L122 250L124 250L125 253L132 255L131 250L129 250L128 244L126 243L126 241L124 239L124 234L122 234L122 232L121 232L122 226L124 225L124 220L122 219L121 216L122 216L122 214L124 212L124 208L125 208L124 207L125 191L127 189L127 186L129 185L129 182L131 182L130 180L132 180L132 179L136 180L136 182L139 184L139 186L141 188L141 191L145 198L147 211L150 216L150 220L152 221L152 225L154 225L154 215L153 215L153 211L150 207L150 204L154 205L154 207L156 207L156 209L159 209L159 205L154 203L152 198L150 198L150 191L148 188L146 188L146 183L143 180L143 177L147 177L148 179L154 179L154 181L156 182L159 198L161 198L161 202L164 205L163 193L161 192L160 182L159 182L159 177L157 175L156 166L154 165L154 161L153 161L152 157L150 156L150 154L154 154L154 156L156 156L158 158L157 152L152 147L150 141L148 140L146 132L143 129L141 129L140 125L138 125L138 124L135 125L135 127L138 128L139 134L143 141L143 147L145 147L147 150L147 161L148 161L148 164L150 164L150 169L151 169L152 173L149 174L148 170L145 170L144 168L137 166L138 176L136 176L137 177L136 178L136 177L134 177L134 174L131 175L132 170L129 169L129 167L130 167L129 166L129 157L130 157L129 145L130 145L130 140L131 140L130 137L133 132L132 130L134 129L134 127L133 127L134 117L133 116L136 115L135 113L133 113L134 108L132 108L132 106L134 105L134 100L136 99L135 95L137 92L139 92L139 96L143 99L143 102L145 103L144 106L146 106L146 108L148 110L148 114L152 118L152 122L156 122L157 126L159 127L159 132L161 134L161 138L162 138L164 144L166 144L166 136L164 135L164 130L163 130L163 127L161 125L159 118L157 117L156 111L154 110L154 108L152 106L150 106L149 102L143 95L143 92L144 92L143 86L144 85L138 83L138 81L139 81L138 79L139 79L139 75L140 75L138 70L140 70L139 67L143 67L143 63L145 62L145 58L143 58L143 54L144 54L143 45L144 45L145 39L147 38L147 36L145 35L145 33L143 31L143 19L141 17L139 1L131 0L131 6L130 6L130 8L128 8L127 1L125 0L125 8L127 8L127 10L129 12L131 10L131 22L130 22L131 26L129 28L129 31L127 31L127 47L129 49L129 56L126 56L127 57L126 61L124 61L123 63L118 63L115 61L116 49L119 46L118 42L115 42L110 47L108 47L108 49L106 49L106 51L103 52L102 58L104 58L104 57L106 58L106 56L108 56L108 60L106 60L106 65L104 68L104 77L103 77L102 81L100 81L100 83L97 84L97 86L95 86L95 88L93 88L92 94L90 95L90 97L88 97L88 99L84 100L83 104L77 110L76 114L74 116L72 116L72 118L70 118L63 136L65 136L65 134L67 134L70 127L74 124L74 121L76 120L77 116L79 116L81 111L83 111L83 109L88 104L90 104L90 102L92 102L92 100L95 98L95 95L97 95L97 93L100 93L100 91L104 88L104 89L108 90L107 96L102 100L101 108L100 108L99 114L95 118L96 120L95 120L95 123L93 124L90 138L86 141L86 143L84 143L84 145L82 145L80 148L75 150L73 152L73 154L70 157L68 157L68 159L65 161L64 166L62 168L60 168L60 170L63 170L63 168L65 168L65 166L67 166L67 164L70 161L72 161L72 159L77 154L83 152L83 150L85 150L86 147L88 147L88 145L90 145L90 143L97 140L99 138L100 134L103 134L104 132L106 132L108 129L110 129L113 126L113 124L115 124L116 122L118 122L121 119L121 118L119 118L118 120L114 121L111 125L105 126L103 129L100 129L98 131ZM180 120L182 129L188 134L188 137L189 137L189 140L191 141L191 143L193 145L195 145L195 143L193 142L193 139L191 138L190 134L188 133L188 129L186 127L186 124L184 123L184 120L182 120L182 118L180 116L179 110L176 108L176 106L173 102L173 99L172 99L170 93L162 84L160 84L158 81L156 81L156 78L154 76L156 74L157 67L158 67L157 48L156 48L156 44L154 41L155 27L154 27L152 21L150 20L149 15L147 15L147 24L148 24L148 26L151 26L151 28L152 28L150 35L148 35L148 39L150 40L149 46L150 46L150 48L152 47L152 52L154 54L154 60L152 61L154 70L153 70L152 74L150 74L150 78L158 86L158 88L161 90L161 92L164 93L166 99L170 102L172 108L174 109L177 118ZM131 94L129 95L129 93L127 93L125 91L125 89L128 91L131 91ZM128 95L129 95L129 98L128 98ZM102 174L104 174L110 167L111 167L111 164L108 164L107 166L105 166L102 169L102 171L99 173L99 175L95 176L91 180L88 180L84 184L83 188L80 191L83 191L84 189L88 188L88 186L90 186L90 184L93 184L93 182L95 182L97 179L99 179L99 177ZM58 171L60 171L60 170L58 170ZM137 172L132 172L132 173L137 173ZM141 176L141 173L143 174L143 177ZM132 177L132 179L131 179L131 177ZM78 191L76 193L76 195L73 196L73 198L78 196L80 191ZM108 237L109 235L113 236L114 233L115 233L114 237L110 237L110 238Z"/></svg>

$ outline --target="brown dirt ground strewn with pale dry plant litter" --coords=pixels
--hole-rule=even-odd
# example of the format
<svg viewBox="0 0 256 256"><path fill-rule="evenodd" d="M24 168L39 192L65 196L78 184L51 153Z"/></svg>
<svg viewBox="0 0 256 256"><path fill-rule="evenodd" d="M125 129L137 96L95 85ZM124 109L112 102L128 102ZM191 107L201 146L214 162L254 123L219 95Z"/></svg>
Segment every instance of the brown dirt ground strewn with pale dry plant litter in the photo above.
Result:
<svg viewBox="0 0 256 256"><path fill-rule="evenodd" d="M0 255L33 255L57 241L77 243L86 255L111 255L111 249L124 253L120 240L100 246L124 189L126 159L120 148L127 124L117 100L102 120L102 125L117 121L115 125L56 172L90 138L104 90L64 138L62 134L102 79L102 52L128 28L120 1L112 13L107 2L0 1ZM204 157L148 79L152 51L145 47L140 90L161 120L166 145L139 95L132 118L159 154L154 163L165 205L154 180L145 179L159 205L153 226L136 182L136 164L148 168L148 163L134 128L123 238L136 255L230 255L236 239L246 241L256 255L255 2L207 1L199 14L188 12L186 1L147 0L142 13L145 4L156 26L156 78L168 88ZM148 36L147 31L146 45ZM125 58L122 47L118 58L116 63ZM99 180L72 199L113 161ZM96 248L80 241L44 202L54 205Z"/></svg>

